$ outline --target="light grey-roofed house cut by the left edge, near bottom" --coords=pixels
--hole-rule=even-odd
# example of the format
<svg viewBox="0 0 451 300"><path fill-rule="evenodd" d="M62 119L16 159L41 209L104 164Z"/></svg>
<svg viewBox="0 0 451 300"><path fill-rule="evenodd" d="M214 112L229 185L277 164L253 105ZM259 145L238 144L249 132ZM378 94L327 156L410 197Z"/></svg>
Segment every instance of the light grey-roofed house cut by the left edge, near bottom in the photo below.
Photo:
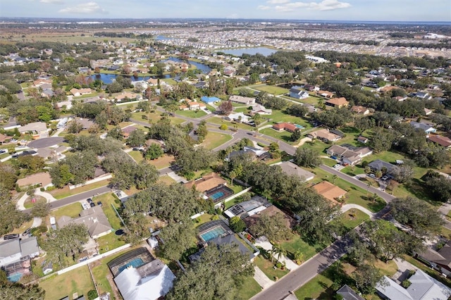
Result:
<svg viewBox="0 0 451 300"><path fill-rule="evenodd" d="M10 239L0 244L0 267L16 263L25 257L39 256L39 245L36 237L27 239Z"/></svg>

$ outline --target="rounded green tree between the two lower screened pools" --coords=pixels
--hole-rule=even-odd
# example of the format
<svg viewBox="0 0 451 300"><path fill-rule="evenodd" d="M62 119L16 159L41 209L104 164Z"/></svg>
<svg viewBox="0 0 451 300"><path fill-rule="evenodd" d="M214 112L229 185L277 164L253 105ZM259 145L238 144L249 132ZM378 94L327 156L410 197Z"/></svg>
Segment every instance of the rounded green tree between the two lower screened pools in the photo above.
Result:
<svg viewBox="0 0 451 300"><path fill-rule="evenodd" d="M161 253L164 257L175 261L193 245L192 237L195 231L192 221L184 219L177 223L169 223L161 230L159 235L164 243L161 245Z"/></svg>

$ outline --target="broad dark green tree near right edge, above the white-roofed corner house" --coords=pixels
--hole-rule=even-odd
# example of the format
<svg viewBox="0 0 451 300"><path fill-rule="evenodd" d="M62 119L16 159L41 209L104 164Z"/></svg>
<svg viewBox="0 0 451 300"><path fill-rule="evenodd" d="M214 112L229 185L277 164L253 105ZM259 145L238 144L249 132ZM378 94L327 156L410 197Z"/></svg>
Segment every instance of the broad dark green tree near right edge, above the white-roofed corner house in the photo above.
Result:
<svg viewBox="0 0 451 300"><path fill-rule="evenodd" d="M425 201L407 196L390 202L391 213L399 223L412 227L416 235L428 237L440 232L443 219Z"/></svg>

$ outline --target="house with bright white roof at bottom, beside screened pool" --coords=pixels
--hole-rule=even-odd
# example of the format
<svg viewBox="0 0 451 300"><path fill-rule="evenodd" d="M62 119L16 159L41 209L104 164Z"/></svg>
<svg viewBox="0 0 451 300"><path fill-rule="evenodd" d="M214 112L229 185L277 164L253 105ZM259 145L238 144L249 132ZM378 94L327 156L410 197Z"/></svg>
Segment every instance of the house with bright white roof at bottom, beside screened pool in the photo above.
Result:
<svg viewBox="0 0 451 300"><path fill-rule="evenodd" d="M160 299L172 289L174 280L171 269L158 258L138 268L129 265L114 277L124 300Z"/></svg>

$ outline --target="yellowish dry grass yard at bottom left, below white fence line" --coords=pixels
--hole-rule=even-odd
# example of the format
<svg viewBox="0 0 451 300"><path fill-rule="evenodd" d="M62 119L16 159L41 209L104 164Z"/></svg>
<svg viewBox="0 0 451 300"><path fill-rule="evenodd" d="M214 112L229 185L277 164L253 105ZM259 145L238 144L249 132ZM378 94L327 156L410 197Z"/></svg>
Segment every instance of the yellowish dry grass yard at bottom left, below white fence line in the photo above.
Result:
<svg viewBox="0 0 451 300"><path fill-rule="evenodd" d="M78 296L85 295L87 299L87 292L95 289L87 265L68 273L51 276L39 282L39 286L45 290L45 299L49 300L62 299L65 296L72 299L73 293L78 293Z"/></svg>

